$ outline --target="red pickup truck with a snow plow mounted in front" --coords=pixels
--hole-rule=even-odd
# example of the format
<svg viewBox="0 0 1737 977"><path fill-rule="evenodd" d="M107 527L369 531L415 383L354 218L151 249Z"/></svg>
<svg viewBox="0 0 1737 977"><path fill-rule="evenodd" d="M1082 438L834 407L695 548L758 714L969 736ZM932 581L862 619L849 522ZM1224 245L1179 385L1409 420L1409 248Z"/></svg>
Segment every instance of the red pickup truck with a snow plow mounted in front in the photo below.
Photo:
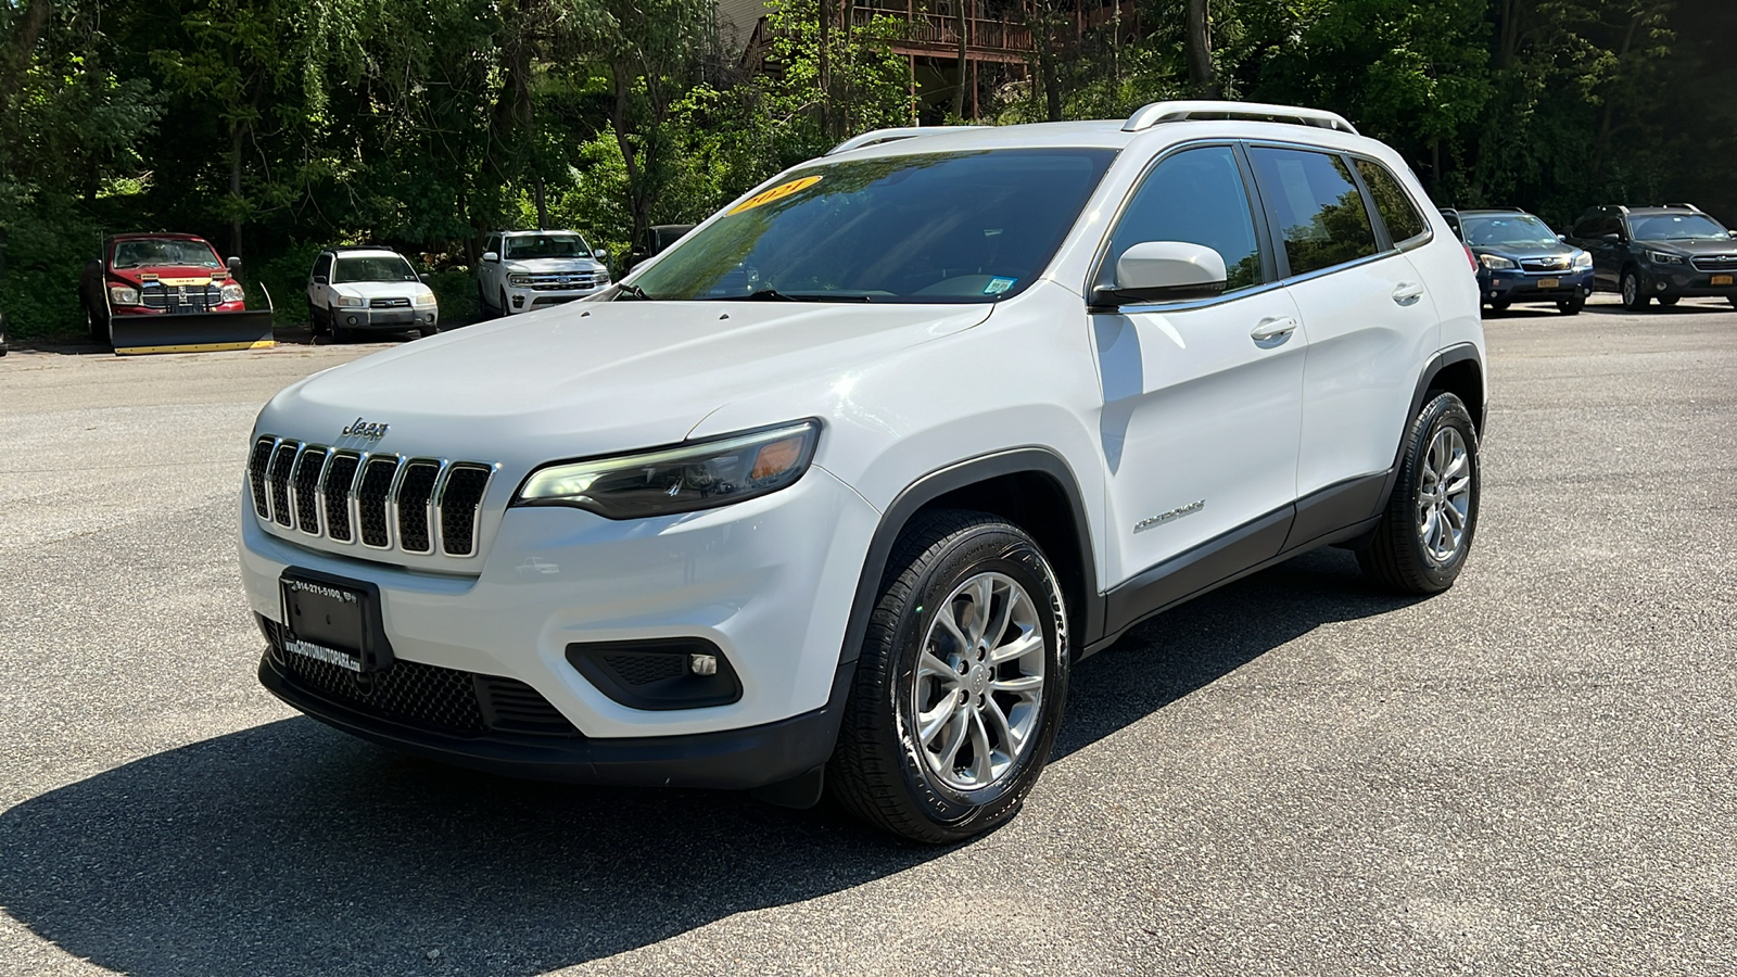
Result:
<svg viewBox="0 0 1737 977"><path fill-rule="evenodd" d="M269 346L269 313L233 315L247 311L238 264L193 235L104 240L78 282L90 339L116 353Z"/></svg>

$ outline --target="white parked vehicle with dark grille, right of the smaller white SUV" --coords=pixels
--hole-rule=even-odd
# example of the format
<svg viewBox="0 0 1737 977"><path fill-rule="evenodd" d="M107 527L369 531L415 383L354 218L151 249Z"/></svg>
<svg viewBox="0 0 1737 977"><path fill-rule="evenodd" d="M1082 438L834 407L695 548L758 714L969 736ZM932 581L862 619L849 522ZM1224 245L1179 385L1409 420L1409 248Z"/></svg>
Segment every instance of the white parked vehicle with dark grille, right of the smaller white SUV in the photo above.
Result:
<svg viewBox="0 0 1737 977"><path fill-rule="evenodd" d="M584 299L610 285L603 259L575 231L500 231L483 243L476 296L483 311L528 313Z"/></svg>

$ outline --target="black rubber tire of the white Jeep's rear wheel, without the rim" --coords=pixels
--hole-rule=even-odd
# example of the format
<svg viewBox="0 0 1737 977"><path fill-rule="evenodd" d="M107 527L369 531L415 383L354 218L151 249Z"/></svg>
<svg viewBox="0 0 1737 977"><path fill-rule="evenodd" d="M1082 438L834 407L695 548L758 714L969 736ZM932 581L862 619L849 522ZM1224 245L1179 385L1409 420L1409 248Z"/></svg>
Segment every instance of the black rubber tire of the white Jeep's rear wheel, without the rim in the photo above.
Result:
<svg viewBox="0 0 1737 977"><path fill-rule="evenodd" d="M1424 480L1430 469L1430 447L1436 435L1452 428L1463 442L1466 459L1466 476L1470 494L1466 513L1461 516L1459 542L1449 558L1431 553L1419 528L1419 509L1426 504ZM1478 431L1471 422L1466 405L1452 393L1438 393L1417 417L1412 419L1405 433L1405 457L1400 462L1398 482L1388 499L1381 525L1367 546L1357 551L1357 563L1364 574L1377 584L1409 595L1433 595L1454 586L1466 555L1471 551L1471 539L1478 528L1478 495L1482 461L1478 455Z"/></svg>

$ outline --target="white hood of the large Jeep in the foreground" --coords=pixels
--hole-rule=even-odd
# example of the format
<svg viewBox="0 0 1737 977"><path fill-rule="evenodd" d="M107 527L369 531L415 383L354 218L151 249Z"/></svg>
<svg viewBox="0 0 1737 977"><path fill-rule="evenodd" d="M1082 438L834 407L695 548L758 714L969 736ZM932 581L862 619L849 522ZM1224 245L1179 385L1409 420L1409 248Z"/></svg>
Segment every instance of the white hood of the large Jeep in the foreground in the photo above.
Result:
<svg viewBox="0 0 1737 977"><path fill-rule="evenodd" d="M681 442L707 414L988 318L994 306L571 302L406 342L307 377L261 431L528 468ZM792 402L778 422L815 412ZM518 462L518 464L516 464Z"/></svg>

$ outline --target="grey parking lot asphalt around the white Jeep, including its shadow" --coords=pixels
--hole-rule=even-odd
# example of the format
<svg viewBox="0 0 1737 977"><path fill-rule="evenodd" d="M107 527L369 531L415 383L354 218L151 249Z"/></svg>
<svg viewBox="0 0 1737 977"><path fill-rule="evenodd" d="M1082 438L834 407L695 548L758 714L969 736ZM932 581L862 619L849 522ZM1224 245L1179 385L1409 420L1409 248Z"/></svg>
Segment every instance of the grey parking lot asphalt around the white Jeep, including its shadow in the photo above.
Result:
<svg viewBox="0 0 1737 977"><path fill-rule="evenodd" d="M1730 974L1737 311L1485 325L1452 591L1324 551L1141 626L955 848L301 718L254 676L247 431L379 346L14 353L0 974Z"/></svg>

